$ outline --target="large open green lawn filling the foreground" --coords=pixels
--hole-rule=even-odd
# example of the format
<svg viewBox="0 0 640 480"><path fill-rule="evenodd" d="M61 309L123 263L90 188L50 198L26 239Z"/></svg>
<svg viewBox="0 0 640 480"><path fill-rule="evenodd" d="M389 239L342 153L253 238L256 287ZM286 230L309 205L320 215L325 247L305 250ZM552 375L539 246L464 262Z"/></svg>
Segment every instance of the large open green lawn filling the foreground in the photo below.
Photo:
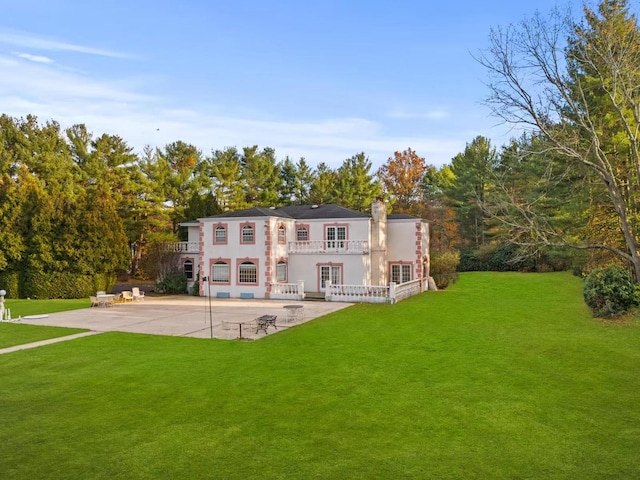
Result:
<svg viewBox="0 0 640 480"><path fill-rule="evenodd" d="M257 342L0 356L3 479L640 477L640 322L568 274L468 273Z"/></svg>

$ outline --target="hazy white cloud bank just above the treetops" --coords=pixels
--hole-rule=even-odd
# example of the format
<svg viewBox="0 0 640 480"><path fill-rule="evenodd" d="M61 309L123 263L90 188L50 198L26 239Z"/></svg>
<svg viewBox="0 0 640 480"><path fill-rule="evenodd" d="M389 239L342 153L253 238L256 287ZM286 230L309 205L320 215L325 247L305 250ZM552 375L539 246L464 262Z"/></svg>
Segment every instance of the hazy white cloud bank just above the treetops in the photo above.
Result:
<svg viewBox="0 0 640 480"><path fill-rule="evenodd" d="M205 154L227 146L259 145L275 148L279 159L305 157L312 166L325 162L332 168L364 151L375 170L394 151L409 147L428 163L447 163L450 152L464 150L468 140L385 134L384 125L364 118L297 121L269 119L264 114L247 117L224 105L176 107L171 98L141 93L148 85L138 79L105 81L23 58L0 55L2 113L34 114L41 121L56 120L63 128L83 123L96 135L121 136L137 151L176 140L193 143Z"/></svg>

